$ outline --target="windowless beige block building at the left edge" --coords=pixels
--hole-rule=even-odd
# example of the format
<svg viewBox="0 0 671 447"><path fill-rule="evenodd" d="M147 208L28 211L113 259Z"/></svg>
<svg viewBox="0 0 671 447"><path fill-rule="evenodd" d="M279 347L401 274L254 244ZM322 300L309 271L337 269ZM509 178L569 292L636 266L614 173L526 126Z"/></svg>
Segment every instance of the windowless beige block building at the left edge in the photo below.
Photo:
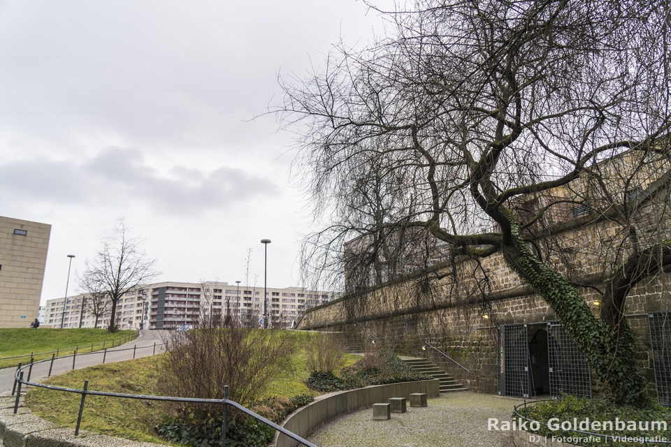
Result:
<svg viewBox="0 0 671 447"><path fill-rule="evenodd" d="M0 216L0 328L37 318L51 226Z"/></svg>

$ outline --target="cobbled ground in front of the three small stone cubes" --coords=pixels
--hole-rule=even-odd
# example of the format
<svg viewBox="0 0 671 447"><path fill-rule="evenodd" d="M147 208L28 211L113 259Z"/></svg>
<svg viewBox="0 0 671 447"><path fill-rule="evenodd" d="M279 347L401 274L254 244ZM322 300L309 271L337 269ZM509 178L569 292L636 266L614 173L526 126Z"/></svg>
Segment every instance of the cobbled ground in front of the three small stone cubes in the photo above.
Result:
<svg viewBox="0 0 671 447"><path fill-rule="evenodd" d="M317 430L308 441L319 447L512 447L512 432L487 430L487 419L512 420L511 397L448 393L425 408L407 406L390 420L373 420L373 409L342 416Z"/></svg>

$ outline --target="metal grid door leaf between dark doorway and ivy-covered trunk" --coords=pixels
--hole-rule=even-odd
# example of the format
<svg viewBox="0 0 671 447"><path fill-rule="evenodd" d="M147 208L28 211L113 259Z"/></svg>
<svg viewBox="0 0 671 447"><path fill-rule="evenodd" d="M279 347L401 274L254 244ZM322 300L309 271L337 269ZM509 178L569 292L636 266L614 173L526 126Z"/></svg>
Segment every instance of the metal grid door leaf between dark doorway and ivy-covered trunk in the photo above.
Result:
<svg viewBox="0 0 671 447"><path fill-rule="evenodd" d="M550 395L592 397L589 367L580 347L558 321L547 323L547 354L550 367Z"/></svg>

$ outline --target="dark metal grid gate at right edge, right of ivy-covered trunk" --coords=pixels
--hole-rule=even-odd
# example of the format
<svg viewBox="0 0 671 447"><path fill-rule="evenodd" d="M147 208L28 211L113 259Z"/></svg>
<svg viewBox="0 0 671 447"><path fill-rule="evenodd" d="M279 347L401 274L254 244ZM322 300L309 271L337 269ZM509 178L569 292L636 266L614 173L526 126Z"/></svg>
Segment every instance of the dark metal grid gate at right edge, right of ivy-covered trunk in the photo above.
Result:
<svg viewBox="0 0 671 447"><path fill-rule="evenodd" d="M671 406L671 312L648 314L657 399Z"/></svg>

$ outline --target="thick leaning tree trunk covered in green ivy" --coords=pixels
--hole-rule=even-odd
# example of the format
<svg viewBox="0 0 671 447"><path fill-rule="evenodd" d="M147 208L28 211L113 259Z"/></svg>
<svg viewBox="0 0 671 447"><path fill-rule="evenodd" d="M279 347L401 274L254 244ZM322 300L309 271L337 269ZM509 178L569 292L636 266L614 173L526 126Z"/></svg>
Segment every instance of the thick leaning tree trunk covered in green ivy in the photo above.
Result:
<svg viewBox="0 0 671 447"><path fill-rule="evenodd" d="M616 331L597 318L575 287L526 247L517 223L502 251L507 264L554 309L603 383L609 400L617 404L649 404L647 381L636 365L635 340L626 320Z"/></svg>

